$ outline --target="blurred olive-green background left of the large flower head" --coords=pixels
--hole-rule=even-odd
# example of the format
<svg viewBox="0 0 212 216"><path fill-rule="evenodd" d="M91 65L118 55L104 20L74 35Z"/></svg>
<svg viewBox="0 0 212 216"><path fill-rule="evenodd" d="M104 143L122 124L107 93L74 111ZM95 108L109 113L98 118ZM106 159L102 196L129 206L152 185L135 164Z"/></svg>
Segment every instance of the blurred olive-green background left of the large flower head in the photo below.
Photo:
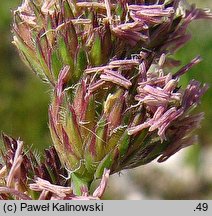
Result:
<svg viewBox="0 0 212 216"><path fill-rule="evenodd" d="M23 65L11 44L12 10L20 2L0 3L0 131L43 149L50 144L48 89Z"/></svg>

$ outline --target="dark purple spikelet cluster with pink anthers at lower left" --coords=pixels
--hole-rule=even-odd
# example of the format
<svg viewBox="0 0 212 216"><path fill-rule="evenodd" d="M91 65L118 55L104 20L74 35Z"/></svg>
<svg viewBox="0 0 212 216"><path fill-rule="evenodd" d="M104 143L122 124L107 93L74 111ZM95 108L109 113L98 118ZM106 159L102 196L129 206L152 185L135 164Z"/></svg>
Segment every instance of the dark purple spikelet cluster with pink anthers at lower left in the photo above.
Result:
<svg viewBox="0 0 212 216"><path fill-rule="evenodd" d="M90 195L88 188L81 188L77 196L70 187L67 170L62 167L54 147L45 151L39 160L29 151L24 152L23 142L3 134L6 154L5 165L0 169L0 200L98 200L102 197L109 178L104 170L99 186Z"/></svg>

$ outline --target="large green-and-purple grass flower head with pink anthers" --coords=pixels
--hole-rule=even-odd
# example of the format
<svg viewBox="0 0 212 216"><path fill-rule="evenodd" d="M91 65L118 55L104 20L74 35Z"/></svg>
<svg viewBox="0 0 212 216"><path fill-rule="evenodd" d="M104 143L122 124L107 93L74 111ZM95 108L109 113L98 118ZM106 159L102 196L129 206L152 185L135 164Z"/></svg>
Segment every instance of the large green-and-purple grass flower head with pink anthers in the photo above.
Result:
<svg viewBox="0 0 212 216"><path fill-rule="evenodd" d="M49 128L75 194L107 179L105 169L162 162L196 142L203 114L192 110L207 85L183 89L180 79L201 58L176 70L173 54L190 22L210 18L184 0L24 0L14 12L13 43L52 88ZM67 198L51 184L38 178L30 188Z"/></svg>

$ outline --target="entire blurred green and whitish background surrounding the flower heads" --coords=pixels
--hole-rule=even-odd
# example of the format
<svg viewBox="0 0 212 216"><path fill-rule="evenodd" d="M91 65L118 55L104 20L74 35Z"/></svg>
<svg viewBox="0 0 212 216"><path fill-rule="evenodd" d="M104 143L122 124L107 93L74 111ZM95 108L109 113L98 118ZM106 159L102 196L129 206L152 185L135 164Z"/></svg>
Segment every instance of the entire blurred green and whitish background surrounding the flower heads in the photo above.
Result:
<svg viewBox="0 0 212 216"><path fill-rule="evenodd" d="M212 8L212 1L190 0ZM21 0L0 2L0 131L21 138L34 149L51 145L48 131L49 89L23 65L11 44L12 10ZM186 64L196 55L203 62L183 77L212 84L212 21L194 22L192 40L176 54ZM106 199L211 199L212 198L212 88L198 110L205 112L199 145L173 156L164 164L153 163L111 177Z"/></svg>

